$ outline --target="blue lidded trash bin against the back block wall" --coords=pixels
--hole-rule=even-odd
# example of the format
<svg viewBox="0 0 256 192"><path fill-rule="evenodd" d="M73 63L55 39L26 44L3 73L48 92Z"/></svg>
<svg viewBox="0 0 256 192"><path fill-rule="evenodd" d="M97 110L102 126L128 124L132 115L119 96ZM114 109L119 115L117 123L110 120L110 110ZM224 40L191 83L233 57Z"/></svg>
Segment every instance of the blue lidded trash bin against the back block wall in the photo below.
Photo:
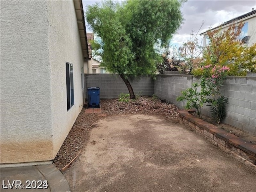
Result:
<svg viewBox="0 0 256 192"><path fill-rule="evenodd" d="M100 88L88 87L87 94L88 108L100 108Z"/></svg>

